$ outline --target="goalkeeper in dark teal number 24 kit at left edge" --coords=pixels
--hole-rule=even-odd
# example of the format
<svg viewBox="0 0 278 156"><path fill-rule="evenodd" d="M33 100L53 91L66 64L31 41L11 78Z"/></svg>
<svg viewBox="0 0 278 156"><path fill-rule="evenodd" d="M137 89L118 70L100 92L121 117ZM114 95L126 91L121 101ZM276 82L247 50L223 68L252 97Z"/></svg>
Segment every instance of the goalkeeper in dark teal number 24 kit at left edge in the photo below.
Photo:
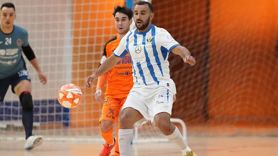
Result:
<svg viewBox="0 0 278 156"><path fill-rule="evenodd" d="M16 18L12 3L1 6L1 32L0 32L0 102L3 102L8 87L19 96L22 106L22 122L25 128L25 149L32 149L43 142L40 135L32 135L33 130L33 100L31 96L31 79L22 57L25 54L30 63L38 72L43 85L47 78L41 71L34 52L28 43L28 33L22 27L14 25Z"/></svg>

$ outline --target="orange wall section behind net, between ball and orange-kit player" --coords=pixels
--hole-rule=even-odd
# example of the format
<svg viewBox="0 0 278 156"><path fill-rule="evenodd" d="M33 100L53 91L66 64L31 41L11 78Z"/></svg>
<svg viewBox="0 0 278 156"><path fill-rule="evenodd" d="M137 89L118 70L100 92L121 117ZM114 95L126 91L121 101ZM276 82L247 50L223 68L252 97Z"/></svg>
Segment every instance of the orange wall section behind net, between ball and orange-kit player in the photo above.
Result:
<svg viewBox="0 0 278 156"><path fill-rule="evenodd" d="M74 1L72 83L81 88L83 99L78 107L71 109L72 127L98 125L102 103L94 99L96 81L92 90L84 87L84 81L98 68L105 43L117 34L112 11L115 5L122 4L124 0Z"/></svg>

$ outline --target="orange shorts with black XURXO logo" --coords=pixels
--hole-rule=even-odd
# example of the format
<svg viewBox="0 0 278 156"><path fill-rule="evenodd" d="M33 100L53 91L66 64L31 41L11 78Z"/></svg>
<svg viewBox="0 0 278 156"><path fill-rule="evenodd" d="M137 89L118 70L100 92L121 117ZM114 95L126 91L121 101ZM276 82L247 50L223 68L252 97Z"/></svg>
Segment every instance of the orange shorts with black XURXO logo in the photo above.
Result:
<svg viewBox="0 0 278 156"><path fill-rule="evenodd" d="M101 120L110 120L115 122L119 117L119 112L124 105L127 97L123 98L105 98L99 123Z"/></svg>

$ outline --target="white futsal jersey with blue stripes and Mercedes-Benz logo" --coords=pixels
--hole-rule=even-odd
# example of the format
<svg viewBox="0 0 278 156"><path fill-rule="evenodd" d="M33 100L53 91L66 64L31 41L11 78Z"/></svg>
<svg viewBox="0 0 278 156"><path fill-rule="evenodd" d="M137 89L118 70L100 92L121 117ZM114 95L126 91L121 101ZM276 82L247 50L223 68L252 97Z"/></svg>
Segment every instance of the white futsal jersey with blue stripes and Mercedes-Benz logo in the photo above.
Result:
<svg viewBox="0 0 278 156"><path fill-rule="evenodd" d="M171 49L180 45L163 28L154 26L142 33L137 29L129 31L114 51L116 57L127 53L132 59L133 88L157 88L165 86L176 94L174 81L170 78L168 55Z"/></svg>

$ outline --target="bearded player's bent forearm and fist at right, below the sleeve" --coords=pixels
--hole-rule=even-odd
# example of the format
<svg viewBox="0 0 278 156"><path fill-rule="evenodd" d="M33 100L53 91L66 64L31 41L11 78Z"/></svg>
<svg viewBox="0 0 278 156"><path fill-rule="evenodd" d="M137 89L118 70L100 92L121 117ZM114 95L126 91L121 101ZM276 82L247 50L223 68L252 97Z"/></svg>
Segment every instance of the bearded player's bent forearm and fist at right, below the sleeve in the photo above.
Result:
<svg viewBox="0 0 278 156"><path fill-rule="evenodd" d="M171 53L180 55L180 57L182 57L183 61L185 63L190 64L191 66L194 66L196 64L196 60L193 56L191 56L189 50L186 49L185 47L182 47L181 45L174 47L171 50Z"/></svg>

